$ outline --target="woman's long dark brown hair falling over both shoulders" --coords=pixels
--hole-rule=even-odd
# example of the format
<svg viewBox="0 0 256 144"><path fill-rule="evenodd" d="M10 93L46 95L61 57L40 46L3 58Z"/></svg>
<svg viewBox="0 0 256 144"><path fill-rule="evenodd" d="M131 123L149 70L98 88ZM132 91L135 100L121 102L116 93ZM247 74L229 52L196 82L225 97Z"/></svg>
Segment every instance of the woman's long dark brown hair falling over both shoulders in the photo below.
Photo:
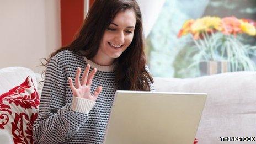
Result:
<svg viewBox="0 0 256 144"><path fill-rule="evenodd" d="M92 59L98 52L104 31L108 28L115 15L131 9L136 15L134 38L127 49L117 58L118 66L115 70L115 81L118 90L149 91L149 83L153 78L146 71L146 56L144 53L144 38L140 8L135 0L96 0L84 20L83 26L74 41L61 47L50 55L55 56L63 50L71 50L79 55ZM83 54L81 54L83 51ZM44 66L50 61L47 60Z"/></svg>

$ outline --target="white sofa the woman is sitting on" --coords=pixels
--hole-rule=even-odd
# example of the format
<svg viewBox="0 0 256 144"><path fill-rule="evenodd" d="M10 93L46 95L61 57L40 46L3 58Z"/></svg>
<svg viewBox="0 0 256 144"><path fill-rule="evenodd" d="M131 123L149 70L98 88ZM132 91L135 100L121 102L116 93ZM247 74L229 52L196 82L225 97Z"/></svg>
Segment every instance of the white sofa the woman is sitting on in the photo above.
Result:
<svg viewBox="0 0 256 144"><path fill-rule="evenodd" d="M33 78L41 94L41 74L24 67L0 70L0 94L22 83L28 75ZM208 94L195 136L198 143L223 143L220 141L222 136L256 135L256 72L233 72L186 79L155 77L154 81L159 92Z"/></svg>

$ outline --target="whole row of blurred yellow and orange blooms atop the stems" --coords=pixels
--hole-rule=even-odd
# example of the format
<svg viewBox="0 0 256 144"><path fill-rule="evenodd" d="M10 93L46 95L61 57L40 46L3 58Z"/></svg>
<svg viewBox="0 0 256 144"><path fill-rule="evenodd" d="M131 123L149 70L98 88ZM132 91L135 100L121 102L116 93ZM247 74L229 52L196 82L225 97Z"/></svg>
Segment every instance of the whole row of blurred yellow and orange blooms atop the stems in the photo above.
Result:
<svg viewBox="0 0 256 144"><path fill-rule="evenodd" d="M236 17L211 17L205 16L199 19L189 19L183 24L179 30L178 38L183 35L191 34L194 40L203 39L204 34L211 35L212 33L222 32L225 35L234 35L245 33L248 35L256 35L256 22L251 19L237 19Z"/></svg>

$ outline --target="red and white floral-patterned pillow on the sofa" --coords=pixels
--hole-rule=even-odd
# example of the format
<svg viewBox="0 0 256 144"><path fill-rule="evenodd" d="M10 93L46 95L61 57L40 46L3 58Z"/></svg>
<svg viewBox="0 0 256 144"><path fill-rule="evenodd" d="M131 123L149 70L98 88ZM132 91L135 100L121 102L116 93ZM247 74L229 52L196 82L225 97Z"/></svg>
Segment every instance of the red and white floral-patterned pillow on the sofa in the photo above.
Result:
<svg viewBox="0 0 256 144"><path fill-rule="evenodd" d="M39 102L30 76L20 86L0 95L0 129L8 131L14 143L35 143L32 132Z"/></svg>

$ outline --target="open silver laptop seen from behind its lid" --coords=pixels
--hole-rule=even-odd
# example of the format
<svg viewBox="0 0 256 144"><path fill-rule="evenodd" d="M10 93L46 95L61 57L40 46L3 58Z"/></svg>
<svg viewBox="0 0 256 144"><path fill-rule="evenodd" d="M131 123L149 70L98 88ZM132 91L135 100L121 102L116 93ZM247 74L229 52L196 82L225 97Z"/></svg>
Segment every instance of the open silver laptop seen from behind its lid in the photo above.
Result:
<svg viewBox="0 0 256 144"><path fill-rule="evenodd" d="M118 90L103 143L193 143L206 96Z"/></svg>

